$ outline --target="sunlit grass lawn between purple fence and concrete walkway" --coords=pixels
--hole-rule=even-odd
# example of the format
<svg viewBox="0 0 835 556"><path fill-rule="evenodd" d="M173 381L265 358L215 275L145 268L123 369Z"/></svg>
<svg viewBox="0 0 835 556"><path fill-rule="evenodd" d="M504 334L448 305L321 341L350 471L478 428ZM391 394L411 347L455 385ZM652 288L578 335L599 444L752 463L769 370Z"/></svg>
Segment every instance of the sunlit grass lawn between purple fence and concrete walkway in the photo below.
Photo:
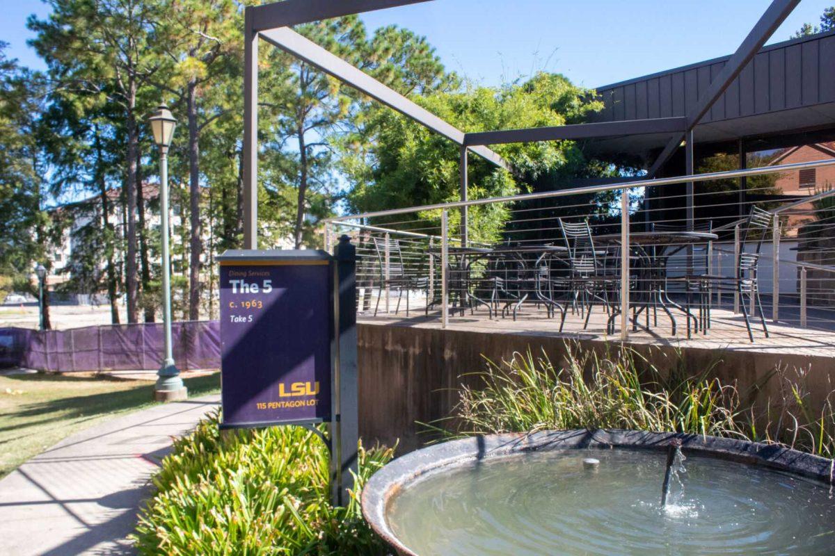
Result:
<svg viewBox="0 0 835 556"><path fill-rule="evenodd" d="M189 396L220 391L220 373L186 378ZM16 374L0 376L0 477L94 423L153 405L147 380Z"/></svg>

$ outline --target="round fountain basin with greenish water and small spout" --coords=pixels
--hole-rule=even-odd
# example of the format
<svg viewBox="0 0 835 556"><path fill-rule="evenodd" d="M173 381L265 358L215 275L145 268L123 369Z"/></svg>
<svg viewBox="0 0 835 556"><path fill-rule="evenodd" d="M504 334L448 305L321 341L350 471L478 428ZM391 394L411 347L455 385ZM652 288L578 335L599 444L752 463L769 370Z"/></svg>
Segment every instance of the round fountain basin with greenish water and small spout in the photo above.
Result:
<svg viewBox="0 0 835 556"><path fill-rule="evenodd" d="M499 434L397 458L362 513L408 556L832 554L831 478L828 459L730 438Z"/></svg>

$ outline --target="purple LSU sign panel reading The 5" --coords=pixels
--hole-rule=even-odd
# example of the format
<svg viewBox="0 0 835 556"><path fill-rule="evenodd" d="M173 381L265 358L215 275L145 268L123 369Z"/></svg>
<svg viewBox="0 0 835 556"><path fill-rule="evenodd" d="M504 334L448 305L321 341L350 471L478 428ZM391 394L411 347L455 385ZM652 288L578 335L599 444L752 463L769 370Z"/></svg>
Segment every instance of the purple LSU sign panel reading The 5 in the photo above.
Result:
<svg viewBox="0 0 835 556"><path fill-rule="evenodd" d="M225 427L331 417L331 258L228 251L220 258Z"/></svg>

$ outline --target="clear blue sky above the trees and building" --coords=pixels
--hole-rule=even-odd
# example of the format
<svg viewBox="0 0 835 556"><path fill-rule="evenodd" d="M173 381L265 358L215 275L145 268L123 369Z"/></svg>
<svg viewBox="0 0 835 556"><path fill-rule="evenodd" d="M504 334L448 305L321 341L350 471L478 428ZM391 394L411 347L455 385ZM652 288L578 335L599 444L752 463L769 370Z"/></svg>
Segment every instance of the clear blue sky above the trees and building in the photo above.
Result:
<svg viewBox="0 0 835 556"><path fill-rule="evenodd" d="M539 69L599 87L733 52L767 0L435 0L363 16L425 35L448 68L495 85ZM817 23L835 0L802 0L770 42ZM10 55L41 68L26 40L40 0L0 0L0 40Z"/></svg>

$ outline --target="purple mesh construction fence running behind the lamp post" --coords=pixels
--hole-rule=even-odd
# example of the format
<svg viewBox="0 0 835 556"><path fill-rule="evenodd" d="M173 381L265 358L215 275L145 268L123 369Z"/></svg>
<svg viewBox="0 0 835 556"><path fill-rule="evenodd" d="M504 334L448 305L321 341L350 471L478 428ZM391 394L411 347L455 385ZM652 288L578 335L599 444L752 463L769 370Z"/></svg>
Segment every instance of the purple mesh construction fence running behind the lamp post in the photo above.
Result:
<svg viewBox="0 0 835 556"><path fill-rule="evenodd" d="M220 368L220 323L174 323L177 368ZM160 323L114 324L69 330L0 328L0 364L41 371L155 370L162 364Z"/></svg>

